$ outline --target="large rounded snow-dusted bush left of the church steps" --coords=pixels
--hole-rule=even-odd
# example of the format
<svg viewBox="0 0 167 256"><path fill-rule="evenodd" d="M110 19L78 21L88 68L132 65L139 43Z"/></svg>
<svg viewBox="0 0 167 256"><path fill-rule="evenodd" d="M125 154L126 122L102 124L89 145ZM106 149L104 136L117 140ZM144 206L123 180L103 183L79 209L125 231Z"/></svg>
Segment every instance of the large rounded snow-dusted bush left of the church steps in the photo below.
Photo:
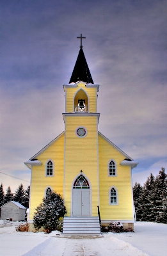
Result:
<svg viewBox="0 0 167 256"><path fill-rule="evenodd" d="M46 234L58 230L61 226L60 217L67 213L60 194L52 192L43 199L42 204L36 208L34 227L36 230L44 228Z"/></svg>

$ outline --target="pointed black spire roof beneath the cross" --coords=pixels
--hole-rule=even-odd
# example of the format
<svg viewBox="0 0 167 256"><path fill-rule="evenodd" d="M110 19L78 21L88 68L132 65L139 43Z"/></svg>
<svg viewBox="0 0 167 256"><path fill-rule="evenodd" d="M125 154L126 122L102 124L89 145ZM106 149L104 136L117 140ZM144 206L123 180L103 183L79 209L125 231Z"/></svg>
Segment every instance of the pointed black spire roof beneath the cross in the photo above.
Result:
<svg viewBox="0 0 167 256"><path fill-rule="evenodd" d="M86 58L84 57L83 47L80 47L79 54L77 56L76 65L72 72L72 76L70 78L69 83L76 83L77 81L83 81L85 83L93 84L93 79L90 74L90 70L88 68L88 64L86 62Z"/></svg>

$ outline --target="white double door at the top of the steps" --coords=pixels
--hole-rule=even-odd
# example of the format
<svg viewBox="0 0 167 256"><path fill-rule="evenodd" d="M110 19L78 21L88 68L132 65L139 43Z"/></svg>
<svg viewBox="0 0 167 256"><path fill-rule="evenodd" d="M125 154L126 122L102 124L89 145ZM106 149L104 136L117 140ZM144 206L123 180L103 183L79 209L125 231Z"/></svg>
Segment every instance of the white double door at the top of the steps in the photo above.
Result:
<svg viewBox="0 0 167 256"><path fill-rule="evenodd" d="M73 189L72 216L90 216L90 189Z"/></svg>

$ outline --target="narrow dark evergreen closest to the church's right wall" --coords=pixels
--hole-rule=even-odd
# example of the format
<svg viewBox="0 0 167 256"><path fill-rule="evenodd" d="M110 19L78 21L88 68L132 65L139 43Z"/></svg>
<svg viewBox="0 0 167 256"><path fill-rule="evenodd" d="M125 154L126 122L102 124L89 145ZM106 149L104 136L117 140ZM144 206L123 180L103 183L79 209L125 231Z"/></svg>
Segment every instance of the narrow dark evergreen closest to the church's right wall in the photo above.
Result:
<svg viewBox="0 0 167 256"><path fill-rule="evenodd" d="M139 183L135 183L133 187L133 200L134 200L134 207L136 212L136 220L139 220L141 218L141 215L139 214L139 198L141 196L143 187Z"/></svg>

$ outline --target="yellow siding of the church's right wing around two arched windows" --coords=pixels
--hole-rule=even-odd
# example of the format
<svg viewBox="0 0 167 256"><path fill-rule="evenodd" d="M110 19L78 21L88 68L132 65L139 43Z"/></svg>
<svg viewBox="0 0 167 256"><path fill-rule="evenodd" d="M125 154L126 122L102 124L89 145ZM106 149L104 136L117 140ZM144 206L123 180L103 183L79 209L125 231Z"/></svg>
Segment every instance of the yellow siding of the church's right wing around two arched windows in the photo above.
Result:
<svg viewBox="0 0 167 256"><path fill-rule="evenodd" d="M108 162L116 161L117 177L108 177ZM100 216L102 220L133 220L131 168L121 166L125 159L99 134L99 179L100 179ZM115 186L118 191L118 205L109 205L109 189Z"/></svg>

